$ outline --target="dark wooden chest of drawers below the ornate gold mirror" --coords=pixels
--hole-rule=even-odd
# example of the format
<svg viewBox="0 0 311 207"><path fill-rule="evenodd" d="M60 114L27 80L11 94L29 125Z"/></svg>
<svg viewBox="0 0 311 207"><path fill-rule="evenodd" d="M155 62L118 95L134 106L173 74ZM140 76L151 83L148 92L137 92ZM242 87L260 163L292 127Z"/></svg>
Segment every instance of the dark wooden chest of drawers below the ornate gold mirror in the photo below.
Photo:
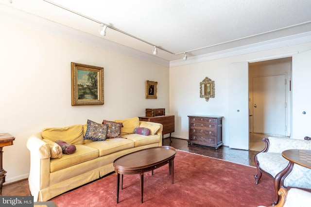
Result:
<svg viewBox="0 0 311 207"><path fill-rule="evenodd" d="M218 149L223 145L223 116L191 115L189 117L189 141Z"/></svg>

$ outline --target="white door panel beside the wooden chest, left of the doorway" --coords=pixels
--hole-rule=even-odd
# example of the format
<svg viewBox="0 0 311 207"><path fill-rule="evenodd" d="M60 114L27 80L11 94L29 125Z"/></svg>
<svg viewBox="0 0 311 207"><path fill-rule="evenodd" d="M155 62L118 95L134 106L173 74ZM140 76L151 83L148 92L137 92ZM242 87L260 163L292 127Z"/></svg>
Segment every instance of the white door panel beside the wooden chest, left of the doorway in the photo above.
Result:
<svg viewBox="0 0 311 207"><path fill-rule="evenodd" d="M248 150L249 112L247 62L229 65L228 120L229 147Z"/></svg>

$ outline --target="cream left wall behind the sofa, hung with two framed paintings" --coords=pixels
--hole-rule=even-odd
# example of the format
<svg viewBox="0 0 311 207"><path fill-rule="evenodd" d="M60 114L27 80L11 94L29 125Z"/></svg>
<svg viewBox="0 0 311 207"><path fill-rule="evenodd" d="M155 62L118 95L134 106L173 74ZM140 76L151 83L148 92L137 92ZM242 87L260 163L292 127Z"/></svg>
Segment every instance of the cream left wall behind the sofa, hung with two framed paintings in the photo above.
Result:
<svg viewBox="0 0 311 207"><path fill-rule="evenodd" d="M44 127L169 112L168 67L3 19L0 27L0 133L16 137L3 147L6 183L28 177L26 141ZM71 62L104 67L104 105L71 106ZM145 99L146 80L158 82L157 99Z"/></svg>

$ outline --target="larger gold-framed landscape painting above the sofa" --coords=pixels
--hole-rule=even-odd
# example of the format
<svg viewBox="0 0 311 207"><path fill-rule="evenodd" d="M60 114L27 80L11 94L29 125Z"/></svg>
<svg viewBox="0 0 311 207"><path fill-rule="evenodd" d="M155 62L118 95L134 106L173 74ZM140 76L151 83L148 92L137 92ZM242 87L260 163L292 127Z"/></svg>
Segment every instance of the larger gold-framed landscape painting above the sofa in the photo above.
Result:
<svg viewBox="0 0 311 207"><path fill-rule="evenodd" d="M71 62L71 105L104 104L104 67Z"/></svg>

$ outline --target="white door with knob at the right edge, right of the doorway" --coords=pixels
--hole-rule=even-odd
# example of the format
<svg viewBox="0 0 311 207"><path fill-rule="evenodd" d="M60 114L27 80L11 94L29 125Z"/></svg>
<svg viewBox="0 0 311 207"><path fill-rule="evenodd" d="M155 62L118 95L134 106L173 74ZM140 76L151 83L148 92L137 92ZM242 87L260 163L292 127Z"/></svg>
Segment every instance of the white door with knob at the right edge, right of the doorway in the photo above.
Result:
<svg viewBox="0 0 311 207"><path fill-rule="evenodd" d="M291 138L311 137L311 50L293 55Z"/></svg>

